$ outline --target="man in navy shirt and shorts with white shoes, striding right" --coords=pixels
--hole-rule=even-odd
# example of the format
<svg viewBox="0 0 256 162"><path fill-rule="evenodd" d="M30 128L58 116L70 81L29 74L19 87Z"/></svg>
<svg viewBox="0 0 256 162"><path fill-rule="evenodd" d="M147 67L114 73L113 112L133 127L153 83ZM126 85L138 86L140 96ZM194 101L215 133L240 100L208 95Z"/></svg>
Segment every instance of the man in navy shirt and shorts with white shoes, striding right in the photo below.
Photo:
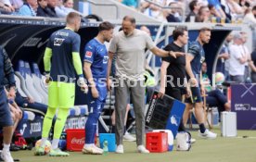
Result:
<svg viewBox="0 0 256 162"><path fill-rule="evenodd" d="M201 138L215 139L217 134L205 129L204 126L205 118L201 97L201 93L205 93L204 86L198 86L198 83L202 82L196 80L196 78L199 78L199 80L202 79L201 66L205 59L203 44L208 44L210 39L211 30L209 28L202 28L199 31L197 41L191 43L188 47L188 54L186 55L186 73L188 75L187 79L189 79L192 96L186 99L186 112L194 106L196 118L200 128L198 136Z"/></svg>

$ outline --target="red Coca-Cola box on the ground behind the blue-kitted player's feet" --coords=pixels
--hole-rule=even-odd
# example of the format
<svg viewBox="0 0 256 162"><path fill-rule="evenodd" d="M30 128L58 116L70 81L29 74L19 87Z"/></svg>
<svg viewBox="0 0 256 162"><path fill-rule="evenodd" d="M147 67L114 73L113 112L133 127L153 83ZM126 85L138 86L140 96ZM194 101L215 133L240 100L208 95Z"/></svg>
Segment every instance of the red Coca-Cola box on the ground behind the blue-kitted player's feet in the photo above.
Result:
<svg viewBox="0 0 256 162"><path fill-rule="evenodd" d="M67 133L67 150L69 151L82 151L83 144L85 143L84 129L68 129ZM96 143L96 140L95 140Z"/></svg>

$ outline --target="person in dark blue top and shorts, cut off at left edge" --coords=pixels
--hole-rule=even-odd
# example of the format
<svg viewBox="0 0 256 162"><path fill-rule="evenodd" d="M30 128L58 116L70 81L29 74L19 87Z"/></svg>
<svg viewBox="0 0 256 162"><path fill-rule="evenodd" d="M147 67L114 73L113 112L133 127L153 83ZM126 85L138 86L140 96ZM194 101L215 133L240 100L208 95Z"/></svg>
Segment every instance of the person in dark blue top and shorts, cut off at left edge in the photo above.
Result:
<svg viewBox="0 0 256 162"><path fill-rule="evenodd" d="M10 87L8 94L15 97L16 84L12 64L4 48L0 46L0 127L3 128L4 136L4 147L1 157L4 161L13 162L13 158L9 151L13 134L13 120L11 118L10 108L7 103L6 92L4 89L5 78L7 79Z"/></svg>

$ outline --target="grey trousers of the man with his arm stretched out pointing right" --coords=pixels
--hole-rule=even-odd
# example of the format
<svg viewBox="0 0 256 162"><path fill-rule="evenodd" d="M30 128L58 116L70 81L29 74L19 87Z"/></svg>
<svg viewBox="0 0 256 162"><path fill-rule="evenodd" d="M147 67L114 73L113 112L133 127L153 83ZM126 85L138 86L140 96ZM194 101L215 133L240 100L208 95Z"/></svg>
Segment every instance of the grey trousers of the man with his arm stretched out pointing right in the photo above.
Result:
<svg viewBox="0 0 256 162"><path fill-rule="evenodd" d="M143 81L128 81L116 78L115 84L115 116L116 116L116 142L122 144L124 117L127 98L131 96L134 105L136 143L144 143L145 135L145 87Z"/></svg>

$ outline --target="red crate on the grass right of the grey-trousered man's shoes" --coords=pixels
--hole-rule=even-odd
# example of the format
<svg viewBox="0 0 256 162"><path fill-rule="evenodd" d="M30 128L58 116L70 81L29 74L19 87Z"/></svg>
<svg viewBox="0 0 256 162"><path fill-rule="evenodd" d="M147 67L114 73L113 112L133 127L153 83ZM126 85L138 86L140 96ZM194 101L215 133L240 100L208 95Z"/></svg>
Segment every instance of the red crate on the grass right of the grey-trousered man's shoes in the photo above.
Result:
<svg viewBox="0 0 256 162"><path fill-rule="evenodd" d="M150 153L163 153L168 151L167 132L147 132L146 147Z"/></svg>

